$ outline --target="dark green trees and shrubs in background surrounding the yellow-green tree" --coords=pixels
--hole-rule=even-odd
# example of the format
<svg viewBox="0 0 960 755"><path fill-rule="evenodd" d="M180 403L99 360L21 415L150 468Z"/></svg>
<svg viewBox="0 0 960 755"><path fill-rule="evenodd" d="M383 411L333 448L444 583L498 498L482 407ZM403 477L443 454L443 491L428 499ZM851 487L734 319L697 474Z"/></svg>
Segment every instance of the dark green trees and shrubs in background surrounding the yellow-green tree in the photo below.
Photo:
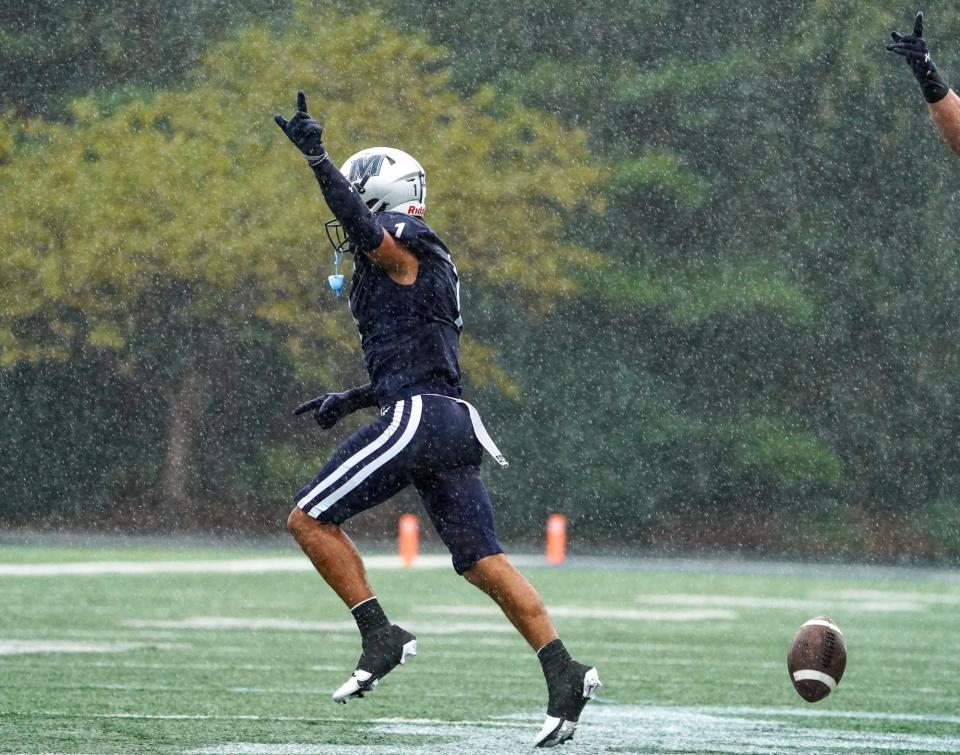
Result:
<svg viewBox="0 0 960 755"><path fill-rule="evenodd" d="M311 7L322 76L323 19L349 23L373 5L4 3L0 111L69 126L79 97L176 91L221 40L251 27L280 40ZM356 23L401 40L425 35L445 50L459 95L488 92L493 115L524 106L585 130L602 169L581 209L546 208L592 260L562 271L575 287L531 306L510 285L529 248L508 250L501 286L464 275L468 332L492 348L502 377L468 374L468 398L511 460L486 475L505 536L533 541L545 516L563 511L575 543L960 556L960 163L939 143L908 68L883 49L890 29L911 26L912 7L376 7L381 15ZM960 75L960 13L925 10L934 57ZM0 150L3 161L11 155ZM448 218L477 211L472 170L483 166L420 157L431 175L461 184L448 201L462 207ZM485 212L498 222L495 206ZM453 226L438 231L455 238ZM310 233L323 249L318 226ZM318 255L315 306L345 319L324 298L327 252ZM487 275L496 264L484 262ZM6 326L29 340L34 324ZM305 377L282 338L254 330L199 319L127 342L121 351L135 354L120 361L82 341L58 358L9 351L0 520L279 529L289 494L354 425L331 439L294 423L299 400L346 386ZM187 367L171 366L165 339ZM356 364L328 374L362 380L359 357L349 358ZM215 379L209 360L219 360ZM207 376L191 383L197 370ZM182 446L179 481L165 469L171 443ZM366 526L393 524L383 514Z"/></svg>

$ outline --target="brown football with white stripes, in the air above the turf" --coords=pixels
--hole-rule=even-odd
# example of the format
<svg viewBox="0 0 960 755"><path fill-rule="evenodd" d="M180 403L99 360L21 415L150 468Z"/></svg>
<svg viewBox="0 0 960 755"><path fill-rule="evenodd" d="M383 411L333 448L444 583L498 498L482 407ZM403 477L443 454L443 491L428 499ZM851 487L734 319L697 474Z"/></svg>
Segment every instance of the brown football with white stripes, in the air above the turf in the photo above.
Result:
<svg viewBox="0 0 960 755"><path fill-rule="evenodd" d="M804 623L787 653L790 681L808 703L822 700L837 688L847 667L843 632L828 616Z"/></svg>

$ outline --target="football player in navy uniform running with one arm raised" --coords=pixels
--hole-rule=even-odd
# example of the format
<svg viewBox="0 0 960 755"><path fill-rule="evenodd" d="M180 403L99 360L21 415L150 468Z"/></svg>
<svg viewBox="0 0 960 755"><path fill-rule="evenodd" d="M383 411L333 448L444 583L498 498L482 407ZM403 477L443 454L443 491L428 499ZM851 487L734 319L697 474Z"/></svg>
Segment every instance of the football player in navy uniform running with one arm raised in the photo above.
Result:
<svg viewBox="0 0 960 755"><path fill-rule="evenodd" d="M533 586L507 560L480 480L486 449L506 460L477 410L460 398L460 282L450 252L423 222L426 176L410 155L390 148L357 153L338 170L323 128L297 112L277 125L303 153L336 220L327 224L337 254L353 254L349 304L370 382L301 404L324 429L376 407L379 417L345 440L295 496L288 526L317 571L353 613L362 653L337 702L363 697L416 655L416 638L391 624L370 589L363 562L340 525L414 485L453 568L486 592L536 651L547 681L547 717L535 744L571 736L600 686L596 668L570 657Z"/></svg>

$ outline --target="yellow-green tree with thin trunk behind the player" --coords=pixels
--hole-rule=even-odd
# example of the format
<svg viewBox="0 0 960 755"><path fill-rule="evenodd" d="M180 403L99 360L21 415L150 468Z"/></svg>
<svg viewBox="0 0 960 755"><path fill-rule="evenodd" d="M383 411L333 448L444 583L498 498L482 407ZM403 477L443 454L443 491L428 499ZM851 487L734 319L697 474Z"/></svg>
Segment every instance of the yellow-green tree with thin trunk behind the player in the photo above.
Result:
<svg viewBox="0 0 960 755"><path fill-rule="evenodd" d="M94 349L162 397L173 504L191 498L211 397L229 408L258 344L282 345L302 380L355 374L341 366L358 361L353 326L323 293L322 200L270 117L299 87L335 156L374 143L420 156L430 221L472 286L531 311L572 290L566 271L592 257L563 218L599 176L584 134L521 106L491 114L492 93L457 95L442 58L380 15L305 2L284 32L248 27L210 50L186 89L78 99L70 124L5 117L0 362ZM475 374L508 384L489 349L472 354Z"/></svg>

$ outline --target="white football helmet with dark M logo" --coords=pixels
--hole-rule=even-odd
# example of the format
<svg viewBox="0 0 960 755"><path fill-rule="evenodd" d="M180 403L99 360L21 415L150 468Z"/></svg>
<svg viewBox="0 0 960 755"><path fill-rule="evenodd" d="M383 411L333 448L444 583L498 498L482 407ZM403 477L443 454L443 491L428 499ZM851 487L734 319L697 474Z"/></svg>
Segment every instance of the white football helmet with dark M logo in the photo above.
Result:
<svg viewBox="0 0 960 755"><path fill-rule="evenodd" d="M402 212L423 217L427 175L406 152L391 147L368 147L347 158L340 167L373 212Z"/></svg>

